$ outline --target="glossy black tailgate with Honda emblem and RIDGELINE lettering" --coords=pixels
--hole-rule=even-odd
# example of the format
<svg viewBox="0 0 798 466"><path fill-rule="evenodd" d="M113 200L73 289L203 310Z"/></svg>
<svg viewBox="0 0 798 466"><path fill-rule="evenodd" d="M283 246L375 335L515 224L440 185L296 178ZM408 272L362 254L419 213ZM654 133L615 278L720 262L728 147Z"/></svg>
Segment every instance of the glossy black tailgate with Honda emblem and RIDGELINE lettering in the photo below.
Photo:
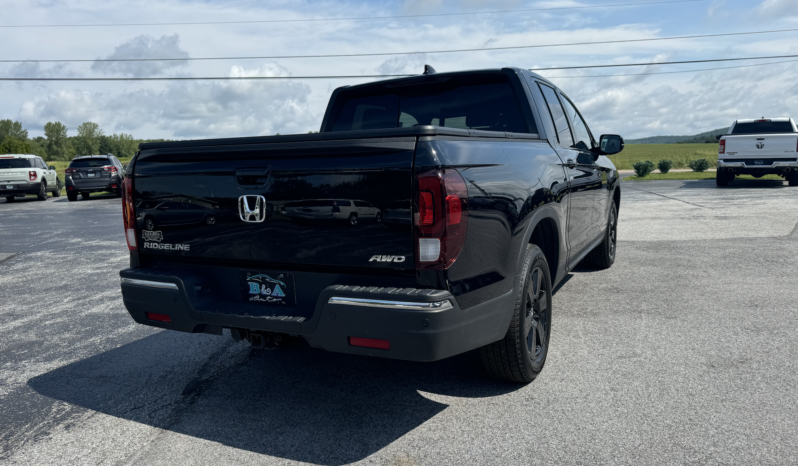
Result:
<svg viewBox="0 0 798 466"><path fill-rule="evenodd" d="M291 270L412 269L414 137L145 149L133 167L140 254ZM408 217L411 215L407 213ZM385 261L373 256L395 256ZM202 262L202 261L200 261Z"/></svg>

